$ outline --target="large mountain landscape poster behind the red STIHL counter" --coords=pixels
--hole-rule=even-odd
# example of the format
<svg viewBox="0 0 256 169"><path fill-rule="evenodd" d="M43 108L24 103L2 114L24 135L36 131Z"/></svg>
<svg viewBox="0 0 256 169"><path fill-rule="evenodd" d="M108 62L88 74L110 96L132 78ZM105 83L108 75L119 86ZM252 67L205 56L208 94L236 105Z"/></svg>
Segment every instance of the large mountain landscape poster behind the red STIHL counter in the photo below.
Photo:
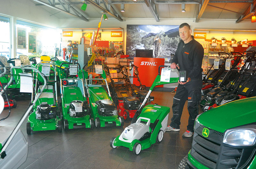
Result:
<svg viewBox="0 0 256 169"><path fill-rule="evenodd" d="M179 25L127 25L126 54L135 57L136 49L153 50L153 58L169 61L180 42Z"/></svg>

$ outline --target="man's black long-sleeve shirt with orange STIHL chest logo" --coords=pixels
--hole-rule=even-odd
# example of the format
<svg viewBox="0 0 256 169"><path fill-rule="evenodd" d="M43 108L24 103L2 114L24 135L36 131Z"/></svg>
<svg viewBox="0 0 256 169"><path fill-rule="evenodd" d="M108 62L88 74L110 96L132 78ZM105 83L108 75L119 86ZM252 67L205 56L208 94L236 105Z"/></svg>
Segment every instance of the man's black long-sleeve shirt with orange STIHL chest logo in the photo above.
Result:
<svg viewBox="0 0 256 169"><path fill-rule="evenodd" d="M172 63L179 64L180 70L186 70L191 79L202 76L202 61L204 57L204 48L192 36L192 40L184 43L180 40L178 48L172 59Z"/></svg>

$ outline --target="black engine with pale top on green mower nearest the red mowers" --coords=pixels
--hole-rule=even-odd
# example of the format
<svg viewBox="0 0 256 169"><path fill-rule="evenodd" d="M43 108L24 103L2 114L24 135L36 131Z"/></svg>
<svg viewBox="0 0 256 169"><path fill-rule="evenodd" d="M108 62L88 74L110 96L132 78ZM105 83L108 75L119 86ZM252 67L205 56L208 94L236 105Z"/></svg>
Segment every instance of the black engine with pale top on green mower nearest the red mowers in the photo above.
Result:
<svg viewBox="0 0 256 169"><path fill-rule="evenodd" d="M116 116L117 109L114 102L109 99L97 100L95 102L97 104L98 113L100 116Z"/></svg>

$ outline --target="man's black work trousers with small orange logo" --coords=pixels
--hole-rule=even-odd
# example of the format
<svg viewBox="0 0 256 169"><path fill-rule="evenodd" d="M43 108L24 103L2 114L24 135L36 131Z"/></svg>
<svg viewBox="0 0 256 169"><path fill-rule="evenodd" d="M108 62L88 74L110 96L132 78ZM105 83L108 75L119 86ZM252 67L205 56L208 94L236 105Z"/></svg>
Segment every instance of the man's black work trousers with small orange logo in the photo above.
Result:
<svg viewBox="0 0 256 169"><path fill-rule="evenodd" d="M180 117L182 115L183 107L188 100L188 126L187 130L194 132L195 118L198 115L198 103L201 99L202 76L196 79L191 79L184 85L179 84L176 94L173 97L172 104L172 122L171 127L180 129Z"/></svg>

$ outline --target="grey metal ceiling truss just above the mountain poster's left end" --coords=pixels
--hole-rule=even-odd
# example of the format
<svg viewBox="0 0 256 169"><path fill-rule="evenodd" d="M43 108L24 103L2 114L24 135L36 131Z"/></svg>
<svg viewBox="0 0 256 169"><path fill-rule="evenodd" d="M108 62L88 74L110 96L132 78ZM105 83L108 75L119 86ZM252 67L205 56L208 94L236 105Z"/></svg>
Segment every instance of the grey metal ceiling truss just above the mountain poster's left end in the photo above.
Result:
<svg viewBox="0 0 256 169"><path fill-rule="evenodd" d="M90 4L92 4L93 6L95 6L96 8L100 9L101 11L107 13L108 15L110 15L110 16L116 18L117 20L119 20L119 21L124 21L124 20L119 16L119 14L116 12L116 10L113 8L113 6L112 6L107 0L103 0L103 1L105 1L104 3L107 3L107 4L104 5L105 7L107 6L107 8L101 7L101 6L100 6L100 1L96 1L96 0L95 0L95 2L94 2L93 0L86 0L86 1L89 2ZM103 2L102 2L102 3L103 3ZM103 4L104 4L104 3L103 3ZM110 10L112 10L113 13L110 12Z"/></svg>

